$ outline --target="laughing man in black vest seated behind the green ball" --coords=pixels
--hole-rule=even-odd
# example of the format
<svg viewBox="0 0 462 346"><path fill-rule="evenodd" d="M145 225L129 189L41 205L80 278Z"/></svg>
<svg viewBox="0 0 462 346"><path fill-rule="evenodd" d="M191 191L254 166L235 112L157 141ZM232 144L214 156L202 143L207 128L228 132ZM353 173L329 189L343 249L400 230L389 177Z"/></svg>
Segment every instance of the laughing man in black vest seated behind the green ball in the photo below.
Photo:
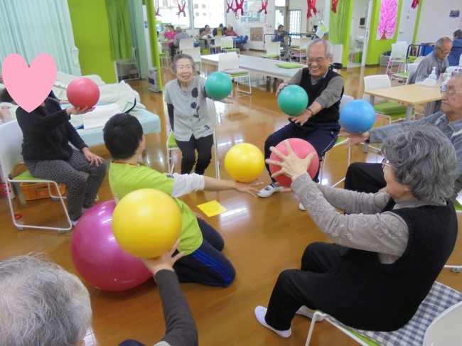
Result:
<svg viewBox="0 0 462 346"><path fill-rule="evenodd" d="M343 95L343 77L329 69L332 62L333 46L328 40L311 40L306 45L308 67L301 68L289 82L281 83L276 97L287 85L299 85L308 94L308 107L296 117L289 117L289 124L268 136L264 142L264 157L269 158L271 146L284 139L299 138L311 143L321 158L333 147L340 125L339 107ZM267 171L269 171L269 165ZM317 181L316 177L313 179ZM260 190L259 197L269 197L283 190L272 179L266 188Z"/></svg>

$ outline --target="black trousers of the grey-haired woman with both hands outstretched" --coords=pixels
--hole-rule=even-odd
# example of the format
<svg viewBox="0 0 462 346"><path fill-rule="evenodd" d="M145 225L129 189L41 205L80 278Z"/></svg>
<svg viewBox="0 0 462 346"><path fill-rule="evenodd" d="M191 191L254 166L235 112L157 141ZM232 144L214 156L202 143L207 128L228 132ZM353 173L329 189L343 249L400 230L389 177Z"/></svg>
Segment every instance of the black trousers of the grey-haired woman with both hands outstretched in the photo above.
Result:
<svg viewBox="0 0 462 346"><path fill-rule="evenodd" d="M301 258L301 269L288 269L279 274L269 298L266 322L277 330L288 330L301 306L319 308L316 296L322 296L326 287L318 285L318 274L337 266L347 251L348 248L337 244L309 244ZM325 299L335 297L326 296Z"/></svg>

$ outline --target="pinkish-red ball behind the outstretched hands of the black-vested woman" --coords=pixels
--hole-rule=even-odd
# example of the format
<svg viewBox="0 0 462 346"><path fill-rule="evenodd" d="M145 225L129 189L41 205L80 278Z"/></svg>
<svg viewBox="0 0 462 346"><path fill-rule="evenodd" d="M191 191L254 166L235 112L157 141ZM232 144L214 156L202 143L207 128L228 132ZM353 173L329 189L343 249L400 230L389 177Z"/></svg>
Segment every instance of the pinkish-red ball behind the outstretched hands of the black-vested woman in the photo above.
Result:
<svg viewBox="0 0 462 346"><path fill-rule="evenodd" d="M289 138L287 139L289 141L289 144L296 154L296 156L299 156L299 158L306 158L310 153L316 153L316 149L309 144L307 141L299 138ZM284 141L281 141L276 146L276 149L281 151L284 155L287 155L287 149L286 149L286 144ZM281 159L276 156L275 153L271 153L271 156L269 156L271 160L274 161L281 161ZM281 167L275 166L270 164L269 165L269 171L271 171L272 174L276 173L277 171L280 171ZM308 167L308 174L311 176L311 179L314 178L316 173L318 173L319 170L319 156L318 153L313 157L313 160L311 160L311 165ZM290 188L290 185L292 183L291 178L289 178L287 175L279 175L276 178L276 181L279 183L279 185L284 186L286 188Z"/></svg>

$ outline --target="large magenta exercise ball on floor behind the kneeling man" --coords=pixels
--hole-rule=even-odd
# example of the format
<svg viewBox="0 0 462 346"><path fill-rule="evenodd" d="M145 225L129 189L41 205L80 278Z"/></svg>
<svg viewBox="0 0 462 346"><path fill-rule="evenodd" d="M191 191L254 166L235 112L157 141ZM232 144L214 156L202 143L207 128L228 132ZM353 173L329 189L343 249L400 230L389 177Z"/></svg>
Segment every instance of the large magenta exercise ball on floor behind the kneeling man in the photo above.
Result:
<svg viewBox="0 0 462 346"><path fill-rule="evenodd" d="M152 274L141 260L127 254L112 233L108 200L87 210L72 232L70 255L80 276L104 291L124 291L144 283Z"/></svg>

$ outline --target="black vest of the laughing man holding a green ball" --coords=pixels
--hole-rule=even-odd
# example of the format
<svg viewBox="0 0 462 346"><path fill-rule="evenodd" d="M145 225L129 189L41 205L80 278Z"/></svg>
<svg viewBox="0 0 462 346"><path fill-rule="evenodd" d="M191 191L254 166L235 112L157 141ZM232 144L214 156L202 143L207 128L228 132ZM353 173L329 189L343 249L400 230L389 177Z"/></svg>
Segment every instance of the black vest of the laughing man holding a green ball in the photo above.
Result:
<svg viewBox="0 0 462 346"><path fill-rule="evenodd" d="M301 72L300 86L303 87L303 89L308 94L308 107L311 106L311 104L314 102L316 97L321 95L321 92L326 90L326 87L331 81L331 79L337 76L339 76L338 73L328 70L326 77L321 78L321 80L319 80L315 85L312 85L311 75L308 70L308 67L303 68ZM340 99L342 98L342 95L343 95L343 88L342 88L342 94L340 95ZM338 119L340 119L340 112L339 112L340 99L338 99L338 101L335 102L331 107L321 109L321 112L316 114L314 117L311 117L310 119L308 119L305 125L312 126L313 123L328 123L328 122L338 121Z"/></svg>

